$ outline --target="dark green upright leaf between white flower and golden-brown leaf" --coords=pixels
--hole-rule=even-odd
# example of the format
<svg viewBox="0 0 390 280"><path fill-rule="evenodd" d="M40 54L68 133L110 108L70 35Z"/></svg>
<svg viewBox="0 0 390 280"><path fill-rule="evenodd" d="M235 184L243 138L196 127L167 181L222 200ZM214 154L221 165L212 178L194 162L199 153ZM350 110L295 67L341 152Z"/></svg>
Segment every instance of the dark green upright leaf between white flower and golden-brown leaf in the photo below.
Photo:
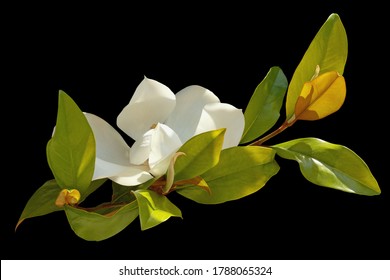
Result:
<svg viewBox="0 0 390 280"><path fill-rule="evenodd" d="M287 78L279 67L272 67L268 71L245 109L245 128L241 143L255 140L276 123L287 85Z"/></svg>

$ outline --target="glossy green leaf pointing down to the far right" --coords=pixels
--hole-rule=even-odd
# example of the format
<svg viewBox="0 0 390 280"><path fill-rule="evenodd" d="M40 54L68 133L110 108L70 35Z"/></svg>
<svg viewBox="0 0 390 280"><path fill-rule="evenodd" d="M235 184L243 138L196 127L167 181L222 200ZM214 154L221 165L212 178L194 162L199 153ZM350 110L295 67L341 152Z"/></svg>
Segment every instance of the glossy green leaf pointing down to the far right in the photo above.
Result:
<svg viewBox="0 0 390 280"><path fill-rule="evenodd" d="M301 138L272 148L279 156L297 161L303 176L316 185L361 195L381 192L366 163L344 146Z"/></svg>

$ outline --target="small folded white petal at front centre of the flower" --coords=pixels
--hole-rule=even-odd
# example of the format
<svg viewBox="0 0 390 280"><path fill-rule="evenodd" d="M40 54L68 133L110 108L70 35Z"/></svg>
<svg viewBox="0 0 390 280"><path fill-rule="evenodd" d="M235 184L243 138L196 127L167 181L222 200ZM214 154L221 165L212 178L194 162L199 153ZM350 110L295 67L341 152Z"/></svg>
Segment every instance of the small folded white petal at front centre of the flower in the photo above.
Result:
<svg viewBox="0 0 390 280"><path fill-rule="evenodd" d="M182 146L179 136L164 124L158 124L154 129L149 155L150 172L163 175L168 169L171 157Z"/></svg>

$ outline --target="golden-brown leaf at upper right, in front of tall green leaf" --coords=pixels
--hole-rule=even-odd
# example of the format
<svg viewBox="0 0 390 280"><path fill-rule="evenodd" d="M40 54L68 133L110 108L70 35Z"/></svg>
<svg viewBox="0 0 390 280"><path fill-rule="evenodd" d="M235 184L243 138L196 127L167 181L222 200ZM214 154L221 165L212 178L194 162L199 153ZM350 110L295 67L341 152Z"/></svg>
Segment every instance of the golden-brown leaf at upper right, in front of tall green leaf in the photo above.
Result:
<svg viewBox="0 0 390 280"><path fill-rule="evenodd" d="M295 105L294 119L322 119L340 109L345 95L344 77L335 71L324 73L303 86Z"/></svg>

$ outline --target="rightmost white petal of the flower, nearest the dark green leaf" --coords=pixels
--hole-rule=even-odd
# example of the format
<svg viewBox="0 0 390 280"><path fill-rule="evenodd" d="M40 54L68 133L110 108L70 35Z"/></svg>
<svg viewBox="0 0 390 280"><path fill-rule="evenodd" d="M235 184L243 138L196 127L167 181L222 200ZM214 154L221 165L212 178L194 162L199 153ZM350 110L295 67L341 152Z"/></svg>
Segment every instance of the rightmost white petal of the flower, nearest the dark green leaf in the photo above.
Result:
<svg viewBox="0 0 390 280"><path fill-rule="evenodd" d="M245 119L241 109L226 104L212 103L204 107L196 134L226 128L223 149L237 146L244 132Z"/></svg>

